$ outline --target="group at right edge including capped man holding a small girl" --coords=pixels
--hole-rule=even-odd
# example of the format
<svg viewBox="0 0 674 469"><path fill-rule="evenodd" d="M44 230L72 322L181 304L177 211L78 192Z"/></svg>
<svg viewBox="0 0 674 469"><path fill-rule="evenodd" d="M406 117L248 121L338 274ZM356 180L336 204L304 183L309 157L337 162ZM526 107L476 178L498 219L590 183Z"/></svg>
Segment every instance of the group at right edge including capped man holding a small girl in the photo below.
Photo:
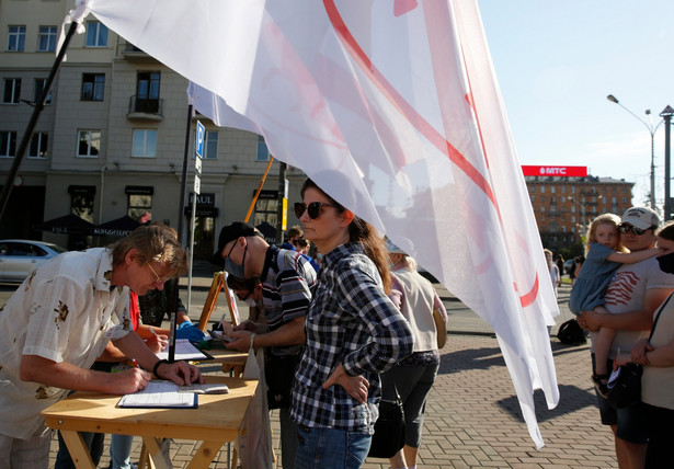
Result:
<svg viewBox="0 0 674 469"><path fill-rule="evenodd" d="M620 468L669 467L674 441L674 224L648 207L596 217L584 256L570 270L569 309L590 332L592 381L601 422L610 427ZM650 333L650 338L649 338ZM607 381L627 363L643 366L641 402L615 408Z"/></svg>

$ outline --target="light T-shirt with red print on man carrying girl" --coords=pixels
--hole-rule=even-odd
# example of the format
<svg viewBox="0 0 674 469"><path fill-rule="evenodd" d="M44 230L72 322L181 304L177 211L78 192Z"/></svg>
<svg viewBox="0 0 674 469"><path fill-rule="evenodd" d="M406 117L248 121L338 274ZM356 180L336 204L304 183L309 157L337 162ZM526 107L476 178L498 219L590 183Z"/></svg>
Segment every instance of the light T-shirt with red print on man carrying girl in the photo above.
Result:
<svg viewBox="0 0 674 469"><path fill-rule="evenodd" d="M674 289L674 275L660 270L658 260L649 258L635 264L622 264L608 283L604 295L605 308L612 313L631 312L643 308L646 293L652 288ZM610 345L609 356L629 353L639 339L648 338L649 331L617 330ZM591 334L594 351L594 333Z"/></svg>

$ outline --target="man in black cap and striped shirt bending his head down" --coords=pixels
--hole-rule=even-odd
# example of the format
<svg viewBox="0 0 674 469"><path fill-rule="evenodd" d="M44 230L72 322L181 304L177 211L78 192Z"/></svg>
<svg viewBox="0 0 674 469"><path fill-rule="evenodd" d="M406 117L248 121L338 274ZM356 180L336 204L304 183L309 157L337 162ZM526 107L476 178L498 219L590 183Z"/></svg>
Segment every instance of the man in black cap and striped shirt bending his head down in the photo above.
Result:
<svg viewBox="0 0 674 469"><path fill-rule="evenodd" d="M270 409L279 409L283 467L292 468L297 449L297 427L289 416L290 387L305 343L305 314L316 286L316 271L296 251L270 245L262 233L236 221L222 228L212 262L229 275L262 286L266 324L244 321L229 336L228 348L241 352L266 347L265 377Z"/></svg>

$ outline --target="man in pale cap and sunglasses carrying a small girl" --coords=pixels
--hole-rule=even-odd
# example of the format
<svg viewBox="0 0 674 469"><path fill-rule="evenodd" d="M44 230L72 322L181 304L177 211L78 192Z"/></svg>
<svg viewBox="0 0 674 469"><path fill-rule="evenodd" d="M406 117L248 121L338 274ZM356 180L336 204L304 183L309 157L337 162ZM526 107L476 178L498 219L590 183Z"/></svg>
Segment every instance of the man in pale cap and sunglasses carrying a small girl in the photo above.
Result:
<svg viewBox="0 0 674 469"><path fill-rule="evenodd" d="M631 252L655 247L655 230L660 217L648 207L631 207L618 225L620 241ZM599 328L616 330L610 347L608 369L617 351L629 353L640 339L647 336L653 323L653 311L674 289L674 276L658 266L655 258L635 264L621 264L606 288L607 313L583 311L579 322L590 331ZM595 334L591 334L594 344ZM594 354L592 355L594 369ZM597 394L602 423L610 425L616 442L620 468L643 467L648 443L641 404L625 409L613 408Z"/></svg>

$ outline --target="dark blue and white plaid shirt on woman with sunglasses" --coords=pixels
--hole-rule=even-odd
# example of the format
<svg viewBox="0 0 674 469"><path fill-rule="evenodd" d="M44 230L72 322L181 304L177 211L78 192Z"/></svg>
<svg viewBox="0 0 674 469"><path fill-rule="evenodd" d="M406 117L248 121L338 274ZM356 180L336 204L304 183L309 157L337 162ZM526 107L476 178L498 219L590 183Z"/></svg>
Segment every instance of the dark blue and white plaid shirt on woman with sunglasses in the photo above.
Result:
<svg viewBox="0 0 674 469"><path fill-rule="evenodd" d="M323 258L305 329L292 419L309 427L372 435L381 394L379 373L411 354L414 339L359 243L342 244ZM369 381L365 404L339 385L322 389L340 363L349 375L363 375Z"/></svg>

